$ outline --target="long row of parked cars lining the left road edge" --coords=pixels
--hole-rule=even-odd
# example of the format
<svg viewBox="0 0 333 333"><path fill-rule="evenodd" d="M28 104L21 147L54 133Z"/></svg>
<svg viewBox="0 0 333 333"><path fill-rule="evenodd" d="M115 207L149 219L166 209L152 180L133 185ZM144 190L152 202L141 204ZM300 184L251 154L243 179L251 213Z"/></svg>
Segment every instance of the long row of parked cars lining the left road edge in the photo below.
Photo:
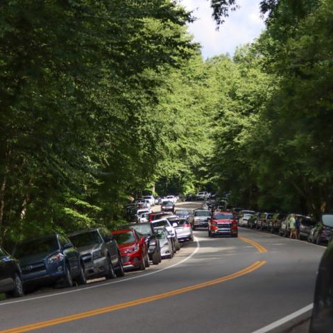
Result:
<svg viewBox="0 0 333 333"><path fill-rule="evenodd" d="M160 264L180 250L181 242L193 240L188 216L184 210L176 213L148 211L145 221L120 225L112 232L101 227L27 239L12 253L0 247L0 293L19 297L28 289L73 287Z"/></svg>

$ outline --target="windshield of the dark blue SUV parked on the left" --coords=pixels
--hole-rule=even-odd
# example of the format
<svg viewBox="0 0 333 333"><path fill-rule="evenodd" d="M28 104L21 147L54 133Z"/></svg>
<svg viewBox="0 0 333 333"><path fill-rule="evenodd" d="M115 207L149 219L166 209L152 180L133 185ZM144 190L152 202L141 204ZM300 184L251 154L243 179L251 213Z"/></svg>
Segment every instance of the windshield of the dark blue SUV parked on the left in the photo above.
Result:
<svg viewBox="0 0 333 333"><path fill-rule="evenodd" d="M12 255L21 259L22 257L30 257L31 255L42 255L56 252L59 245L56 236L43 239L31 239L23 241L15 246Z"/></svg>

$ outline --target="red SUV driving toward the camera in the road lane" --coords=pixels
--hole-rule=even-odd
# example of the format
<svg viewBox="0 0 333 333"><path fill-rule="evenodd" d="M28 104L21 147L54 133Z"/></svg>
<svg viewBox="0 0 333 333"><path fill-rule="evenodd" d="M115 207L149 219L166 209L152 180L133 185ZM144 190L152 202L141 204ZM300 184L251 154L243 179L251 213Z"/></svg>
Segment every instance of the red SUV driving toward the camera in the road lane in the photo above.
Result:
<svg viewBox="0 0 333 333"><path fill-rule="evenodd" d="M238 237L236 214L231 212L212 212L212 216L208 219L208 236L214 237L218 234Z"/></svg>

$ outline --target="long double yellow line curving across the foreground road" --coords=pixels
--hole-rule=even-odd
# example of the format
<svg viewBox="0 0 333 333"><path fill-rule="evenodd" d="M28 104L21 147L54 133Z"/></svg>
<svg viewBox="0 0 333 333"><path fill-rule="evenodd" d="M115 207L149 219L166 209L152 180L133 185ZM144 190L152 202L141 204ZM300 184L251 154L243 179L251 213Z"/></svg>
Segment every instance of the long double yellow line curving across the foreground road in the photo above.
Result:
<svg viewBox="0 0 333 333"><path fill-rule="evenodd" d="M210 287L214 284L219 284L219 283L224 282L224 281L232 280L234 278L239 278L242 275L246 275L248 273L256 271L258 268L264 266L264 264L266 264L266 261L257 261L257 262L254 262L253 264L251 264L250 266L248 266L244 269L241 269L241 271L238 271L236 273L232 273L230 275L225 275L222 278L218 278L218 279L215 279L215 280L210 280L210 281L207 281L207 282L194 284L193 286L180 288L180 289L176 289L176 290L173 290L173 291L168 291L166 293L159 293L159 294L154 295L154 296L139 298L138 300L132 300L130 302L123 302L123 303L120 303L120 304L117 304L117 305L110 305L108 307L101 307L99 309L94 309L94 310L91 310L91 311L81 312L79 314L72 314L70 316L63 316L63 317L56 318L56 319L50 319L49 321L42 321L40 323L34 323L34 324L9 328L9 329L6 329L6 330L1 330L0 333L21 333L21 332L29 332L29 331L33 331L33 330L39 330L41 328L50 327L50 326L53 326L53 325L59 325L59 324L62 324L62 323L67 323L69 321L77 321L79 319L88 318L88 317L92 317L92 316L98 316L100 314L105 314L105 313L108 313L108 312L111 312L111 311L125 309L125 308L128 308L128 307L134 307L136 305L140 305L140 304L144 304L144 303L148 303L148 302L153 302L154 300L161 300L162 298L168 298L168 297L171 297L171 296L176 296L176 295L179 295L181 293L187 293L188 291L194 291L196 289Z"/></svg>

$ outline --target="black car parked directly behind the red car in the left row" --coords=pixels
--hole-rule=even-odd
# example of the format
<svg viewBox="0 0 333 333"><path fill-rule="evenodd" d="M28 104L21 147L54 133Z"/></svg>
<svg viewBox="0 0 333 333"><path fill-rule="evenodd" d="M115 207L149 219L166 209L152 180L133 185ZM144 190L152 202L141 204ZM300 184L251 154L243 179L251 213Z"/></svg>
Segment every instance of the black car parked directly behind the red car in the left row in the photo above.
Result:
<svg viewBox="0 0 333 333"><path fill-rule="evenodd" d="M160 241L157 238L157 234L153 228L152 223L132 223L123 225L123 228L133 228L139 232L139 234L142 234L146 238L149 259L153 262L154 265L157 265L161 262Z"/></svg>

